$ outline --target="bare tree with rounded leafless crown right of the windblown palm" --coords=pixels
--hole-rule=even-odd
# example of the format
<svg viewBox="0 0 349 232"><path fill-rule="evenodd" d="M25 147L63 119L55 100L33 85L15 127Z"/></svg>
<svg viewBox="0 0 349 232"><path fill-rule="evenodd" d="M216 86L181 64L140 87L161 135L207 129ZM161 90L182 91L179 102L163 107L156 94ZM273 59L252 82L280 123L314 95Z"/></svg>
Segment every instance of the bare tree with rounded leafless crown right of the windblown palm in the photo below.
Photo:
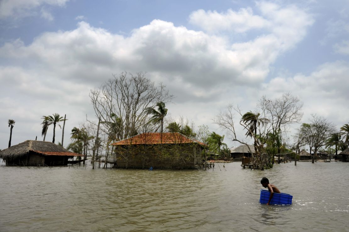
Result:
<svg viewBox="0 0 349 232"><path fill-rule="evenodd" d="M303 103L299 98L292 96L291 93L284 93L282 97L275 100L267 99L265 96L259 102L259 107L267 111L267 118L272 126L272 133L276 138L277 153L280 153L282 145L283 129L291 123L299 122L303 117Z"/></svg>

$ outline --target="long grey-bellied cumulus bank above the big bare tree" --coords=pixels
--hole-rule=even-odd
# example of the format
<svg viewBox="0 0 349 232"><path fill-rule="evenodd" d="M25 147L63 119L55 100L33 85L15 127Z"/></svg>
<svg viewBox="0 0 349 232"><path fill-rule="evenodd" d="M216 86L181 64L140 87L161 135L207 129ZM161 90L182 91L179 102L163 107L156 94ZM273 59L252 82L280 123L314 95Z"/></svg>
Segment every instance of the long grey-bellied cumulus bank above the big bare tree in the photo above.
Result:
<svg viewBox="0 0 349 232"><path fill-rule="evenodd" d="M40 64L64 80L96 82L101 74L142 70L168 81L177 77L185 88L195 86L200 93L222 82L262 81L277 56L272 47L276 40L269 36L230 45L224 38L161 20L124 37L80 22L73 31L43 33L28 46L21 40L5 43L0 53L9 61Z"/></svg>

